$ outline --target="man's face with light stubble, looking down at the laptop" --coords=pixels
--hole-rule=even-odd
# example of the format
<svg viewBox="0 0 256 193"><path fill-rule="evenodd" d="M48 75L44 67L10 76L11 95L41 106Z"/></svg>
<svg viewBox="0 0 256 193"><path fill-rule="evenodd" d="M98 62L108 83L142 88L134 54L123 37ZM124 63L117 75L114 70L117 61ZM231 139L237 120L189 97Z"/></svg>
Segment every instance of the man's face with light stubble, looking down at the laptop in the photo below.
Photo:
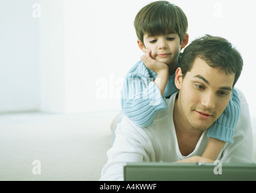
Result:
<svg viewBox="0 0 256 193"><path fill-rule="evenodd" d="M199 57L193 67L182 77L181 69L176 72L179 89L178 106L181 116L191 127L204 131L222 115L229 103L235 74L213 68Z"/></svg>

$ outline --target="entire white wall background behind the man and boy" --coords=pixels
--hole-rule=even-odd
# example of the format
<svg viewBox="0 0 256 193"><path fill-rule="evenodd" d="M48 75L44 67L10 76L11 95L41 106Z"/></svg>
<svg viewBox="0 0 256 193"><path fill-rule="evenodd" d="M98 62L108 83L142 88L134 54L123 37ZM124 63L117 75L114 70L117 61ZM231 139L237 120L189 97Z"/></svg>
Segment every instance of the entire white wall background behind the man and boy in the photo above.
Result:
<svg viewBox="0 0 256 193"><path fill-rule="evenodd" d="M19 25L17 18L12 19L11 14L6 10L13 10L18 17L21 10L31 11L31 4L34 2L40 4L42 12L39 18L40 63L39 57L36 57L38 55L32 54L36 50L33 46L31 47L33 41L24 38L27 36L16 33L15 42L20 49L11 49L13 46L7 40L5 43L9 43L8 49L0 45L1 50L5 49L5 55L11 52L19 55L21 50L23 52L25 49L29 50L27 55L14 57L15 60L12 59L10 64L17 69L19 67L17 60L20 58L28 61L27 65L30 68L25 69L31 69L30 80L27 80L25 75L18 78L18 75L12 75L10 67L7 67L10 65L2 67L1 62L0 87L1 90L5 90L5 95L0 96L0 104L5 104L5 109L11 109L14 103L30 109L31 104L37 107L38 105L35 104L39 101L38 108L50 112L120 109L120 89L123 77L142 55L136 45L133 19L140 8L152 1L43 0L22 1L24 3L22 5L18 4L20 2L18 0L11 2L17 2L16 5L19 6L11 5L9 1L1 1L1 5L8 5L8 7L0 6L5 10L0 11L0 19L4 15L5 22L16 22L12 28L17 31L17 28L21 27L26 32L29 31L29 27ZM256 92L253 88L255 62L252 52L256 43L253 35L256 28L254 1L173 0L171 2L179 5L187 14L190 40L208 33L225 37L237 46L245 62L237 87L245 93L251 114L256 116L256 101L254 100ZM26 22L32 25L33 19L30 16ZM33 27L36 25L34 24ZM6 39L12 39L12 36L8 35L11 34L12 28L5 32ZM25 49L21 49L24 48L23 41L27 42ZM38 41L38 37L34 37L34 42ZM1 60L5 63L8 61L7 57ZM40 64L40 83L37 76L38 65L34 66L36 69L31 68L34 60ZM34 77L31 77L32 71L37 72ZM22 73L26 73L24 68L19 70L19 74ZM12 78L10 78L11 75ZM3 85L3 81L6 84ZM16 93L21 93L18 91L20 87L25 89L27 84L24 81L32 86L27 89L27 92L22 93L25 100L21 101L14 96ZM7 83L10 86L7 86ZM15 84L14 87L13 84ZM6 92L8 89L12 91ZM4 96L9 99L8 103L4 102ZM31 96L34 96L33 99ZM26 101L31 103L25 103ZM16 109L21 109L18 105L16 107Z"/></svg>

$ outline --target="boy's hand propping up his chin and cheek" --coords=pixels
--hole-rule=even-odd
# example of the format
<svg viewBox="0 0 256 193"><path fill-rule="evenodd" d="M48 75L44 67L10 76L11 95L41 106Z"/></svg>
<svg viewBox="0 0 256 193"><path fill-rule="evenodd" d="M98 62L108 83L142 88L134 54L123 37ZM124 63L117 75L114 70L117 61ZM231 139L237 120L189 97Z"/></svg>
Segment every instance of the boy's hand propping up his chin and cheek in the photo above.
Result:
<svg viewBox="0 0 256 193"><path fill-rule="evenodd" d="M162 71L167 71L167 72L169 71L169 68L165 63L158 62L152 59L150 54L151 54L151 50L147 49L146 53L141 56L141 60L147 68L156 72L156 74L159 74L159 72L162 72Z"/></svg>

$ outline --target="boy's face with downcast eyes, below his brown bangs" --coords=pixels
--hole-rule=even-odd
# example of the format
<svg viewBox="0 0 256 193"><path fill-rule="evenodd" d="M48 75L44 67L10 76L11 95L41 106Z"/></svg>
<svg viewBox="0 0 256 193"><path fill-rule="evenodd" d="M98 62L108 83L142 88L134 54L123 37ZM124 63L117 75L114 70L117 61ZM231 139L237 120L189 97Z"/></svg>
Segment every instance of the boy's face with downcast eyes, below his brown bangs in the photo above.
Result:
<svg viewBox="0 0 256 193"><path fill-rule="evenodd" d="M143 41L144 45L138 40L139 48L143 52L146 52L146 49L150 49L152 59L163 62L168 66L177 65L179 52L187 45L183 41L181 43L179 35L175 33L153 37L144 34Z"/></svg>

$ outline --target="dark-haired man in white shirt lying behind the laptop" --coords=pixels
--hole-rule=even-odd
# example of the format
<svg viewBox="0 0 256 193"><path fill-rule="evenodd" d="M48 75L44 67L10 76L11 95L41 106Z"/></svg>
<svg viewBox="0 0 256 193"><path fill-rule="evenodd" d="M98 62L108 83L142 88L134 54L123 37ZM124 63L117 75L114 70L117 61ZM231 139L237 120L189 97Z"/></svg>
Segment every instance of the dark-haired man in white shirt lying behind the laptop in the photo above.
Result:
<svg viewBox="0 0 256 193"><path fill-rule="evenodd" d="M123 180L126 162L213 162L203 156L206 148L213 148L207 146L208 128L222 118L242 67L242 57L227 40L209 35L194 40L182 54L175 77L179 91L166 101L168 109L159 112L149 127L138 127L123 118L100 180ZM225 144L217 155L223 163L252 162L248 104L243 93L237 92L240 117L234 143ZM234 120L223 121L230 124ZM224 131L230 132L228 128Z"/></svg>

